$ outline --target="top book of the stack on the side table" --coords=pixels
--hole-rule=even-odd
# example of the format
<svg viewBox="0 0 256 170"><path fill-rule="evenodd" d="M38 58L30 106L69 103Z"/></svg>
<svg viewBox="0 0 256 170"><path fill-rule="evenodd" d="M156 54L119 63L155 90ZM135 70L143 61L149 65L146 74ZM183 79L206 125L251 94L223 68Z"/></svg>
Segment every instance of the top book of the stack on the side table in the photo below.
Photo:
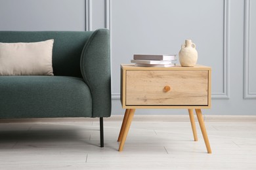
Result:
<svg viewBox="0 0 256 170"><path fill-rule="evenodd" d="M134 54L133 59L147 59L147 60L173 60L176 58L176 54L161 54L161 55L154 55L154 54Z"/></svg>

